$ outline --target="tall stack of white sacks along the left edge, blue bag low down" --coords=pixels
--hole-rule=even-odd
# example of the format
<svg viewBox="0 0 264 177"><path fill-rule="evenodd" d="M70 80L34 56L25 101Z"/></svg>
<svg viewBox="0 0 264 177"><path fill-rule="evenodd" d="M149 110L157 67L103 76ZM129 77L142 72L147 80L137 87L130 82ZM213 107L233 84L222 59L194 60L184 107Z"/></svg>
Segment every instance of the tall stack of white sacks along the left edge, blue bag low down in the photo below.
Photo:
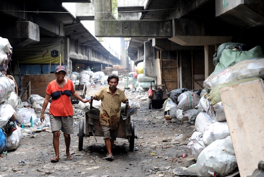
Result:
<svg viewBox="0 0 264 177"><path fill-rule="evenodd" d="M12 47L8 39L0 37L0 153L4 149L7 151L16 149L22 138L21 130L19 127L16 128L14 122L18 108L15 82L4 75L11 54Z"/></svg>

